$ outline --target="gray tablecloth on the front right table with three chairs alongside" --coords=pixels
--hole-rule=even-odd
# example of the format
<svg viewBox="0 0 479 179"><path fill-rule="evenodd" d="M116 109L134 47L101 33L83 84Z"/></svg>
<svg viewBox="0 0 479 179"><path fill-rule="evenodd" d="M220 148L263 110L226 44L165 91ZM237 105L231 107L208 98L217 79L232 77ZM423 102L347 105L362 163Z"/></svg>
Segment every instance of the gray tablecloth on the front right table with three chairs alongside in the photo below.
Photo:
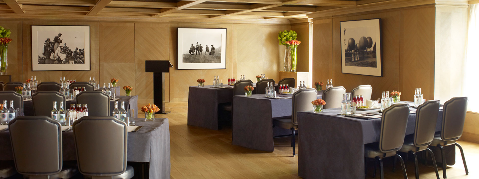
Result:
<svg viewBox="0 0 479 179"><path fill-rule="evenodd" d="M415 110L415 109L413 109ZM357 113L375 112L357 111ZM381 119L358 119L337 115L340 108L323 113L298 112L298 175L306 179L364 179L364 145L379 141ZM416 114L409 115L406 135L414 133ZM436 131L441 130L442 110ZM447 163L455 163L454 146ZM451 154L452 153L452 154ZM436 160L439 159L437 152Z"/></svg>

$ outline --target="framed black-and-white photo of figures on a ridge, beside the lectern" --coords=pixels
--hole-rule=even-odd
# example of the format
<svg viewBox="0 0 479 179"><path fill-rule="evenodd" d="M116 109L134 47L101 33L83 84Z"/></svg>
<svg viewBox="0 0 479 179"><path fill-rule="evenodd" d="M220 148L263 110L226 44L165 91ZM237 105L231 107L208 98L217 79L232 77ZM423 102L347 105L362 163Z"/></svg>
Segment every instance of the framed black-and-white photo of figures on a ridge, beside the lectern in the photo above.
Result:
<svg viewBox="0 0 479 179"><path fill-rule="evenodd" d="M226 69L226 29L178 28L177 66Z"/></svg>

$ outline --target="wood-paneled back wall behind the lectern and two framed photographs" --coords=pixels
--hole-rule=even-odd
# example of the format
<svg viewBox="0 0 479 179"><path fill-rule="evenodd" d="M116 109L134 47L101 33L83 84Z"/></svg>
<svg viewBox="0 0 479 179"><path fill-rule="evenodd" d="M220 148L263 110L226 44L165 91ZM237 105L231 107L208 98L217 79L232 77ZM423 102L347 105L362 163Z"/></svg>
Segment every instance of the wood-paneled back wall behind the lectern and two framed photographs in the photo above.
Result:
<svg viewBox="0 0 479 179"><path fill-rule="evenodd" d="M91 27L91 71L32 71L31 25L89 25ZM100 83L119 79L120 86L133 86L138 103L153 102L152 73L145 73L146 60L170 60L174 68L165 76L165 101L188 100L188 88L196 79L211 84L214 75L224 83L228 77L240 74L255 81L255 76L267 74L278 79L283 54L276 35L289 30L285 24L233 23L161 23L161 22L99 22L99 21L10 21L0 26L11 29L8 72L12 81L25 81L37 76L41 81L58 81L60 76L88 81L95 76ZM212 70L176 70L177 28L226 28L227 68ZM280 66L281 65L281 66ZM124 91L121 92L124 95Z"/></svg>

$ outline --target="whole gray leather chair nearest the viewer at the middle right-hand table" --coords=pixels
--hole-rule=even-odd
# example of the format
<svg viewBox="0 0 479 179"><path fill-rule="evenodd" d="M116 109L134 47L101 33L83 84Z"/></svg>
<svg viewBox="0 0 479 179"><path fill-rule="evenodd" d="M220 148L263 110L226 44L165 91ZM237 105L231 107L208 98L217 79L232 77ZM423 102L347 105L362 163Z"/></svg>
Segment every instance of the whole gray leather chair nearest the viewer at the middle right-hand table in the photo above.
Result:
<svg viewBox="0 0 479 179"><path fill-rule="evenodd" d="M293 156L296 155L295 130L298 128L297 112L312 110L313 105L311 105L311 101L318 99L317 95L318 91L316 91L316 89L300 89L293 94L291 117L273 119L273 127L278 126L285 129L291 129Z"/></svg>

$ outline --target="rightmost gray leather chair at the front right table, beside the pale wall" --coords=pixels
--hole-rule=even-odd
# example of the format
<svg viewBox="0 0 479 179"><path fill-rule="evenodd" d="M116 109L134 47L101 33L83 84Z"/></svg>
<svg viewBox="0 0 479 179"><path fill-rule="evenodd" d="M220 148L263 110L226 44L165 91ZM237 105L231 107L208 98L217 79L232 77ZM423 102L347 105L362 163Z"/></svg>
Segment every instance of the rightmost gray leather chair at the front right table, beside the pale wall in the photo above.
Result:
<svg viewBox="0 0 479 179"><path fill-rule="evenodd" d="M462 136L464 128L464 120L466 119L466 111L468 108L468 97L453 97L446 101L443 106L443 123L441 131L434 134L431 146L437 146L441 150L443 163L443 178L446 178L446 155L444 146L456 145L461 151L462 162L466 175L469 174L466 158L462 147L456 143L456 140Z"/></svg>

